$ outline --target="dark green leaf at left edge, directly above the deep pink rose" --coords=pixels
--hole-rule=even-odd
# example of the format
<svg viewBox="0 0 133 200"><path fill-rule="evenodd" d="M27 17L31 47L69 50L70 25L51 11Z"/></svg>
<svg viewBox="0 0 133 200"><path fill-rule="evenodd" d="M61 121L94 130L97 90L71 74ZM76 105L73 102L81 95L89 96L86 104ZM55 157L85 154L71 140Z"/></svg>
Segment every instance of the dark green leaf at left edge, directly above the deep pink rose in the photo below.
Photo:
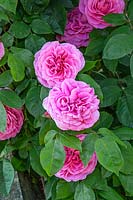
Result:
<svg viewBox="0 0 133 200"><path fill-rule="evenodd" d="M0 90L0 101L12 108L21 108L23 105L20 97L14 91L8 89Z"/></svg>

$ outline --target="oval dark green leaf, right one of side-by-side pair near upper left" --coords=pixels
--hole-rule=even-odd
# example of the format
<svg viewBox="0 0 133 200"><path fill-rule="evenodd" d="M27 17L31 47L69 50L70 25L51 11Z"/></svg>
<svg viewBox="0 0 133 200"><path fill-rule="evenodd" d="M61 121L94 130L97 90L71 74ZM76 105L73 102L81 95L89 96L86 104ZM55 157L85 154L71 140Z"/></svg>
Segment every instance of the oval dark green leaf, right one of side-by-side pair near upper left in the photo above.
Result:
<svg viewBox="0 0 133 200"><path fill-rule="evenodd" d="M53 32L50 25L41 19L34 19L31 23L31 28L36 34L50 34Z"/></svg>

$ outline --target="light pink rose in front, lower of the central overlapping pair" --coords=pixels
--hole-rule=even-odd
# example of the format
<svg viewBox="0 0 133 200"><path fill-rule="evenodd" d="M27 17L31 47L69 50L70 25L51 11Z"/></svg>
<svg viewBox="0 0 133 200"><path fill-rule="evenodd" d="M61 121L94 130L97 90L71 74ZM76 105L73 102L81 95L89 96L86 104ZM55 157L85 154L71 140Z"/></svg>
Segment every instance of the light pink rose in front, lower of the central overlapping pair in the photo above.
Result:
<svg viewBox="0 0 133 200"><path fill-rule="evenodd" d="M84 130L99 119L99 99L94 89L74 79L65 79L53 87L43 106L62 130Z"/></svg>

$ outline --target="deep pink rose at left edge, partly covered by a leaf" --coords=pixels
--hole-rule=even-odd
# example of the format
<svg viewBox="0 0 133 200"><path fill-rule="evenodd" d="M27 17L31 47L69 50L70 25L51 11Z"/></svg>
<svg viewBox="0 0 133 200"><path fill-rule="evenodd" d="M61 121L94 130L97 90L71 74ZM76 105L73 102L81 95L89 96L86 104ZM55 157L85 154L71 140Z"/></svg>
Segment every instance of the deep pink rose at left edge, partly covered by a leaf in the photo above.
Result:
<svg viewBox="0 0 133 200"><path fill-rule="evenodd" d="M15 137L20 132L24 116L21 109L5 106L7 115L7 125L5 132L0 132L0 140L6 140Z"/></svg>

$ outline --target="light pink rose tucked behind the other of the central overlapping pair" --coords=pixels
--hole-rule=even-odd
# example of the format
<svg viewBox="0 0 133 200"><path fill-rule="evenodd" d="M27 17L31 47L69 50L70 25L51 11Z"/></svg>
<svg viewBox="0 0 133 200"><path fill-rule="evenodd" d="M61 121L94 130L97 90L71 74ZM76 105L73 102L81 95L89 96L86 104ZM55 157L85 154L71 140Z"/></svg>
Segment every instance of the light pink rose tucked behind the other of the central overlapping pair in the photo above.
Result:
<svg viewBox="0 0 133 200"><path fill-rule="evenodd" d="M76 78L84 67L83 54L72 44L47 42L35 54L35 73L42 85L52 88L65 78Z"/></svg>

